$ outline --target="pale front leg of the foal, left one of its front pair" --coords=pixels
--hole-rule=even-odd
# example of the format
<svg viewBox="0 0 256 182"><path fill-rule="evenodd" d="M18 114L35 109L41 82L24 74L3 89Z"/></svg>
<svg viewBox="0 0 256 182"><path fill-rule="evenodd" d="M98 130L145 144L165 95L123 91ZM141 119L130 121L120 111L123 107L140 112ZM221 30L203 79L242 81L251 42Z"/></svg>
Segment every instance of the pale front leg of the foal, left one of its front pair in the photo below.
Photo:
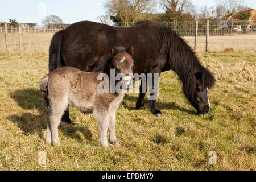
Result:
<svg viewBox="0 0 256 182"><path fill-rule="evenodd" d="M108 147L107 131L109 126L109 113L94 110L94 115L101 133L99 146Z"/></svg>

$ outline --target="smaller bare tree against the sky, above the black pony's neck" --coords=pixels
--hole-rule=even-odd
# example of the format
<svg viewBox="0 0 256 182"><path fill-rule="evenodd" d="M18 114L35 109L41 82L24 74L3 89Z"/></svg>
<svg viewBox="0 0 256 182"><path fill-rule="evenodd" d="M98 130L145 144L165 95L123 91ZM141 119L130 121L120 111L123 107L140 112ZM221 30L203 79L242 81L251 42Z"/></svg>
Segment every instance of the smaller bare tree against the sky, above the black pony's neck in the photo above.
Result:
<svg viewBox="0 0 256 182"><path fill-rule="evenodd" d="M160 0L160 6L166 11L166 20L177 20L186 13L196 15L195 5L190 0Z"/></svg>

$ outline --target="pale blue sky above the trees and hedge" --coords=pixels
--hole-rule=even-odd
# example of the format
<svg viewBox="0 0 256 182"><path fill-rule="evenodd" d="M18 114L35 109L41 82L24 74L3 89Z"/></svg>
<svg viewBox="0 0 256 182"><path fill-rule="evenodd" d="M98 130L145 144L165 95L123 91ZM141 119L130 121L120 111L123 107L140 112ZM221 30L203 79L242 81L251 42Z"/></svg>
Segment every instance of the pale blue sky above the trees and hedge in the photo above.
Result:
<svg viewBox="0 0 256 182"><path fill-rule="evenodd" d="M23 0L2 1L0 22L17 19L23 23L40 24L45 15L57 15L64 23L81 20L97 21L97 16L105 13L105 0ZM215 0L192 0L197 7L213 5ZM255 0L244 0L244 5L256 9ZM44 11L44 7L45 10ZM44 13L45 12L45 13Z"/></svg>

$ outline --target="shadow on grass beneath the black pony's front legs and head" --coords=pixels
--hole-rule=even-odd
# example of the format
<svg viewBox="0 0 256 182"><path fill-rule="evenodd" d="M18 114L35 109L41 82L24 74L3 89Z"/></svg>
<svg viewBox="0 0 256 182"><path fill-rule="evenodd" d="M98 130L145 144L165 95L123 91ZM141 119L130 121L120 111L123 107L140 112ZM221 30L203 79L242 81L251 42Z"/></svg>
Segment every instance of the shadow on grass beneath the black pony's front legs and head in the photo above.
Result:
<svg viewBox="0 0 256 182"><path fill-rule="evenodd" d="M133 106L129 106L127 105L127 102L126 101L131 101L134 103L134 107ZM130 95L125 95L125 98L123 99L123 102L122 102L122 105L123 107L125 107L126 109L129 109L129 110L136 110L135 108L135 103L137 101L137 97L135 96L130 96ZM148 102L148 100L145 99L145 104L146 102ZM181 112L185 112L185 113L188 113L188 114L191 114L191 115L197 115L197 113L195 112L195 110L188 110L188 109L184 109L180 106L177 106L175 104L175 102L159 102L159 101L156 101L156 104L158 106L158 109L171 109L171 110L179 110Z"/></svg>

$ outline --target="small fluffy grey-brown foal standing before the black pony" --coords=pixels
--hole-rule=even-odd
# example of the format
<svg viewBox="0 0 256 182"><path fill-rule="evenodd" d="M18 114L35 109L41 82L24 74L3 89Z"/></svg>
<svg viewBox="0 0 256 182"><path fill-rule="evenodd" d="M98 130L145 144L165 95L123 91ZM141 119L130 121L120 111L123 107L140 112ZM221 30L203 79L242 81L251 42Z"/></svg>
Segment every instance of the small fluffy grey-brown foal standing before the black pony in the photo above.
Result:
<svg viewBox="0 0 256 182"><path fill-rule="evenodd" d="M97 72L84 72L73 67L61 67L42 78L40 91L44 103L51 107L47 117L47 144L60 144L58 137L58 126L64 111L69 105L77 107L82 111L92 110L101 132L100 146L108 146L107 130L109 128L109 140L115 146L119 146L115 136L115 111L124 96L124 90L132 82L130 76L133 68L133 48L118 46L112 49L112 57L96 68ZM114 72L110 72L114 69ZM101 71L98 71L101 70ZM102 73L102 74L101 74ZM122 73L119 75L119 73ZM104 76L108 84L107 91L111 88L111 77L116 74L122 78L121 92L98 92L98 79ZM110 76L110 74L113 74ZM110 78L110 79L109 79ZM114 86L118 84L114 81ZM104 86L105 87L105 86Z"/></svg>

